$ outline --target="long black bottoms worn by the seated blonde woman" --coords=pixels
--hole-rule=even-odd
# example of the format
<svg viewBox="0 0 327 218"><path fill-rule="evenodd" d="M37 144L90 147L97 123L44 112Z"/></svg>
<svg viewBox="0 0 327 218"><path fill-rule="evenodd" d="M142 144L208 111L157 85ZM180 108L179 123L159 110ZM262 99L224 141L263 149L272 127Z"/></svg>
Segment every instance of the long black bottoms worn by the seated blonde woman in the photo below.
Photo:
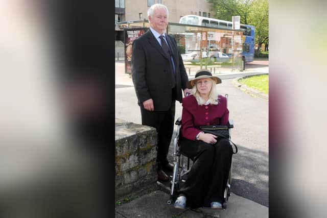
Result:
<svg viewBox="0 0 327 218"><path fill-rule="evenodd" d="M194 162L179 195L185 196L192 208L209 207L214 201L223 203L232 157L229 141L219 138L216 144L208 144L181 138L180 150Z"/></svg>

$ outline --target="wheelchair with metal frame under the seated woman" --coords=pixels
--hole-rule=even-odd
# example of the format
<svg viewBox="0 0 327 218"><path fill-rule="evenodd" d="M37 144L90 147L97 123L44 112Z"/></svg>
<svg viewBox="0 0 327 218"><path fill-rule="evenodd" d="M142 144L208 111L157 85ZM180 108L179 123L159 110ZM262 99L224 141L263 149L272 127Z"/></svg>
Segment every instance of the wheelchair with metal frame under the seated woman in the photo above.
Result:
<svg viewBox="0 0 327 218"><path fill-rule="evenodd" d="M228 94L225 94L226 99L228 99ZM167 201L168 204L172 204L174 202L174 199L177 197L176 192L179 190L179 188L183 185L183 183L187 179L187 175L190 172L190 159L186 157L180 151L180 144L179 144L179 136L180 136L180 127L181 127L181 117L178 117L178 119L175 122L175 125L177 125L177 131L176 131L176 137L174 139L174 148L173 148L173 164L174 164L174 170L173 170L173 178L171 181L171 188L170 188L170 198ZM232 119L228 120L228 131L229 136L231 136L231 129L234 127ZM187 161L187 164L186 164ZM225 187L224 191L224 202L222 204L223 208L225 209L227 206L228 198L230 196L230 184L231 184L231 171L232 171L232 162L229 169L229 176L228 181Z"/></svg>

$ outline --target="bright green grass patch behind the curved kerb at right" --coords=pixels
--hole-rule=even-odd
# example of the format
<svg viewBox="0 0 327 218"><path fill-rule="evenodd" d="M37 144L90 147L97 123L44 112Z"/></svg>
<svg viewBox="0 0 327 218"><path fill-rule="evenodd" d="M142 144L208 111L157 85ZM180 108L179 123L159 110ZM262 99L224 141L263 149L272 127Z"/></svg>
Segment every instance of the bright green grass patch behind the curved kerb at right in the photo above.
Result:
<svg viewBox="0 0 327 218"><path fill-rule="evenodd" d="M255 90L262 91L265 94L269 92L269 76L268 75L259 75L247 77L239 80L239 83L245 84L250 88Z"/></svg>

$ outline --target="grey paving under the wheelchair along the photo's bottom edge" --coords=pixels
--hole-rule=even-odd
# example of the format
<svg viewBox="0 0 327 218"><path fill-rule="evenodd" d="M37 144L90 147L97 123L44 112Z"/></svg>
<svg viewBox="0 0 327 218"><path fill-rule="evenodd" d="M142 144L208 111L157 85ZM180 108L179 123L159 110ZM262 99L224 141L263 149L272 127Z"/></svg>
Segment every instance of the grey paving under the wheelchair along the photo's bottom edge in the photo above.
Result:
<svg viewBox="0 0 327 218"><path fill-rule="evenodd" d="M229 198L227 209L217 210L211 208L198 208L195 210L175 209L173 205L168 205L169 195L158 190L130 203L116 206L115 217L222 217L222 218L255 218L268 217L268 207L242 198L232 193Z"/></svg>

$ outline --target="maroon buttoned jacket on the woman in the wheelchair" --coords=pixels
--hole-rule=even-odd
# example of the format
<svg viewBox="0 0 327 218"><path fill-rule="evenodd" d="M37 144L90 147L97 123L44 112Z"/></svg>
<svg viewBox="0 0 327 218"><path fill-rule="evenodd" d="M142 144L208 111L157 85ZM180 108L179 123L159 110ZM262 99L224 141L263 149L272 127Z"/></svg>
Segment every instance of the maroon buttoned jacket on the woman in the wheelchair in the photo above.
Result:
<svg viewBox="0 0 327 218"><path fill-rule="evenodd" d="M200 126L228 124L227 99L222 95L218 98L218 105L198 105L193 95L183 99L181 133L184 138L195 141L201 132Z"/></svg>

